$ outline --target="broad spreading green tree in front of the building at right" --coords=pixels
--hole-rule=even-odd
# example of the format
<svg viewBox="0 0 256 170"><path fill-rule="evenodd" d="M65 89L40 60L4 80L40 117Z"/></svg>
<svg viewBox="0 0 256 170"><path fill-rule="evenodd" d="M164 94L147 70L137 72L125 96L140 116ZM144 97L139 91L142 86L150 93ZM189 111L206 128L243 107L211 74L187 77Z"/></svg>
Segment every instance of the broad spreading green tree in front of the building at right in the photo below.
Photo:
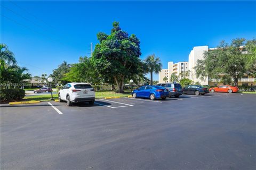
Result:
<svg viewBox="0 0 256 170"><path fill-rule="evenodd" d="M245 44L244 38L237 38L233 39L230 45L222 41L217 49L205 52L204 59L198 60L195 67L197 78L231 78L235 86L238 86L238 80L244 74L255 70L255 50L246 50ZM252 61L248 62L250 56ZM254 63L254 66L249 66L250 63Z"/></svg>

